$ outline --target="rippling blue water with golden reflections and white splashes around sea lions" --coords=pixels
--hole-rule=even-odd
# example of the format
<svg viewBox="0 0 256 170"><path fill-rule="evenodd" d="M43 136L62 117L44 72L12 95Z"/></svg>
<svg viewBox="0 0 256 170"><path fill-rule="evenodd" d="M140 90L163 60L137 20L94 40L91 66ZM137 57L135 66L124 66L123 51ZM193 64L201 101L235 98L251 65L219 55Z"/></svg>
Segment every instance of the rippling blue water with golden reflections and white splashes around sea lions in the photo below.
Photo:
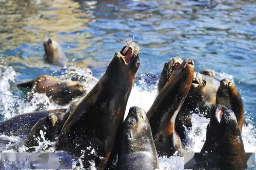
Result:
<svg viewBox="0 0 256 170"><path fill-rule="evenodd" d="M0 1L0 121L38 110L65 108L44 94L26 101L16 84L63 70L44 61L42 42L51 37L64 48L70 64L89 67L100 78L120 41L135 36L141 66L127 105L148 110L163 65L172 56L196 60L196 71L211 68L232 78L240 90L248 126L246 152L256 152L256 3L254 1ZM123 40L124 39L124 40ZM120 41L119 41L120 40ZM126 112L127 114L127 112ZM193 115L189 152L199 152L209 120ZM4 136L2 136L4 138ZM6 137L8 138L8 137ZM0 146L19 152L18 137ZM42 147L44 144L42 144ZM38 147L37 151L41 151ZM160 158L161 169L183 168L183 158Z"/></svg>

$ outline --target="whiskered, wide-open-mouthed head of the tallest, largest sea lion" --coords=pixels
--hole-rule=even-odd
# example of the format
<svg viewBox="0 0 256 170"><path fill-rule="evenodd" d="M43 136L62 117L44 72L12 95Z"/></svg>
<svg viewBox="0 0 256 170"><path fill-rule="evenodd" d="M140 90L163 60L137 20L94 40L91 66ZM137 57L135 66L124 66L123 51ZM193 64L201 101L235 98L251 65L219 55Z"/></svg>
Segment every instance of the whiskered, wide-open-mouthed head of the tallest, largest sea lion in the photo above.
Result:
<svg viewBox="0 0 256 170"><path fill-rule="evenodd" d="M139 52L140 47L130 41L120 52L115 53L106 73L115 76L116 83L128 83L132 86L140 66Z"/></svg>

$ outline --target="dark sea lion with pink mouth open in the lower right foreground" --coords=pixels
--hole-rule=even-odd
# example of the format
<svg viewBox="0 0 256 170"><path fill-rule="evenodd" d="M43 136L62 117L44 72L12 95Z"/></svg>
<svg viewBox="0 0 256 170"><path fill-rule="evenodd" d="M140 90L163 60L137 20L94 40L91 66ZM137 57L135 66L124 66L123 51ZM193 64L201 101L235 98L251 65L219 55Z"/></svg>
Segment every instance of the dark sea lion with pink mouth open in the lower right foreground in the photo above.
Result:
<svg viewBox="0 0 256 170"><path fill-rule="evenodd" d="M244 169L244 144L237 118L223 105L213 105L197 169Z"/></svg>

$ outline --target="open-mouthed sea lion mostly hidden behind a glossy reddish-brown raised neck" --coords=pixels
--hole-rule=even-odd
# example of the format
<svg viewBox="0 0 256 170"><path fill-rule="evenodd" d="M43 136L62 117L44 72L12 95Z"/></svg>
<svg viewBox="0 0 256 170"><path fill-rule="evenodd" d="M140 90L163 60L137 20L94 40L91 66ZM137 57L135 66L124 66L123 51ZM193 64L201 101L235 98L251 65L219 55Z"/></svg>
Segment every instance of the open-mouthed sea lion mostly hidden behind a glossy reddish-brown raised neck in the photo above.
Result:
<svg viewBox="0 0 256 170"><path fill-rule="evenodd" d="M180 57L172 57L170 61L166 62L161 73L159 83L157 85L157 94L164 88L166 82L168 81L171 73L176 70L182 63L182 59Z"/></svg>

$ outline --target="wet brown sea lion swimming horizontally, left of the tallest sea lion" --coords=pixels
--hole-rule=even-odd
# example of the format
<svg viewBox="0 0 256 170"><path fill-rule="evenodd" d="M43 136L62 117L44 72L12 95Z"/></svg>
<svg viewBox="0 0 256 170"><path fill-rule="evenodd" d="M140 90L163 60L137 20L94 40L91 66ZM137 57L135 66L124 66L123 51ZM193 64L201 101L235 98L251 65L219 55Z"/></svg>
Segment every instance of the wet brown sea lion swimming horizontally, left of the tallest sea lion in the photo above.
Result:
<svg viewBox="0 0 256 170"><path fill-rule="evenodd" d="M31 81L18 84L19 87L31 89L30 96L34 93L45 93L59 105L66 105L74 98L84 95L87 88L79 81L64 81L53 76L41 75Z"/></svg>

